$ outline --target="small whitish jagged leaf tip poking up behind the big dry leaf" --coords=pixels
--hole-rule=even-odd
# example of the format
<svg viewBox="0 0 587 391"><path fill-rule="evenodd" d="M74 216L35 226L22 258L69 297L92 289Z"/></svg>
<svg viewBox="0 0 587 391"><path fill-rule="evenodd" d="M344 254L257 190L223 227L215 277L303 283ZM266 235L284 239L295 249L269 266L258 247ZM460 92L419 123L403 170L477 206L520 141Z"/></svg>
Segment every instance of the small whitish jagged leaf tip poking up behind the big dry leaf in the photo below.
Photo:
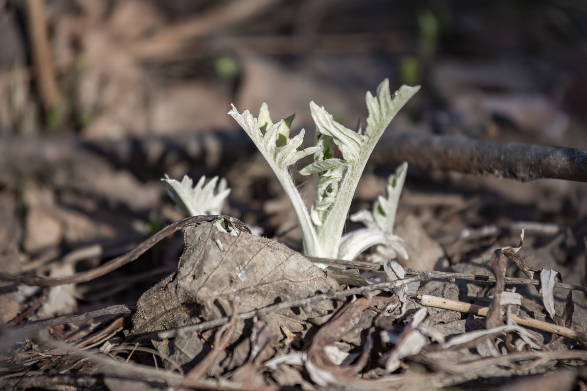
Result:
<svg viewBox="0 0 587 391"><path fill-rule="evenodd" d="M216 186L218 176L214 176L208 183L205 183L206 177L202 176L194 187L187 175L179 182L166 174L161 181L166 182L166 190L171 199L190 216L220 215L224 200L230 194L224 178Z"/></svg>

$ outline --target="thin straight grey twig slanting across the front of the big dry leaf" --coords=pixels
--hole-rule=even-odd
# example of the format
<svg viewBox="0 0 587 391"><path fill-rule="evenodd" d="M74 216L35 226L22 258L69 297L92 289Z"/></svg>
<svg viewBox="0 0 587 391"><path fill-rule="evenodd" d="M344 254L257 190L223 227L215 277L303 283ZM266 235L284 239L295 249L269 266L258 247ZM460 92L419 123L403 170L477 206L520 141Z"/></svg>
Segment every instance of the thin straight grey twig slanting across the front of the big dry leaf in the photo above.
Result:
<svg viewBox="0 0 587 391"><path fill-rule="evenodd" d="M429 276L427 276L426 274L420 274L419 276L404 278L403 280L388 281L386 283L373 284L373 285L368 285L366 287L359 287L359 288L352 288L352 289L347 289L347 290L343 290L343 291L323 293L323 294L318 294L315 296L310 296L310 297L306 297L306 298L298 299L298 300L282 301L277 304L268 305L267 307L258 308L257 310L243 312L242 314L238 315L238 319L250 319L255 316L258 317L261 315L269 314L270 312L282 310L284 308L302 307L306 303L309 304L309 303L316 302L316 301L332 300L332 299L340 300L340 299L343 299L345 297L349 297L352 295L363 295L365 297L370 297L372 295L372 291L383 290L383 289L392 289L395 287L399 287L400 285L410 284L410 283L414 283L416 281L426 281L429 279L430 279ZM222 318L214 319L211 321L205 321L205 322L201 322L201 323L197 323L197 324L193 324L193 325L186 325L186 326L177 327L177 328L173 328L173 329L169 329L169 330L141 334L140 336L142 337L142 336L147 336L147 335L151 335L151 334L156 334L159 338L175 338L176 336L180 335L183 332L203 331L203 330L207 330L207 329L211 329L214 327L224 325L224 324L228 323L230 318L231 317L222 317ZM131 336L131 339L134 339L137 337L139 337L139 335Z"/></svg>

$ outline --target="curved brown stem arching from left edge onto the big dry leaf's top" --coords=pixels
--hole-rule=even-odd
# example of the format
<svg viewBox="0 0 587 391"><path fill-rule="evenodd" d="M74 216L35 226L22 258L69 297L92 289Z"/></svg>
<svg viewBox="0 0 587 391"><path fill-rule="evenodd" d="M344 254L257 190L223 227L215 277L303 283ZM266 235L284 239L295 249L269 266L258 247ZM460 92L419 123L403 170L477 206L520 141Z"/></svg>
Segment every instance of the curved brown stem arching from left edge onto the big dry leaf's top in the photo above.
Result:
<svg viewBox="0 0 587 391"><path fill-rule="evenodd" d="M251 232L247 226L243 223L239 222L239 220L234 219L230 216L194 216L188 217L187 219L183 219L178 221L177 223L173 223L168 225L164 229L160 230L149 239L145 240L139 246L135 247L134 249L130 250L128 253L116 257L110 261L107 261L102 266L82 271L80 273L73 274L73 276L68 277L56 277L56 278L46 278L46 277L28 277L28 276L19 276L18 274L9 274L9 273L0 273L0 281L8 281L9 283L14 284L21 284L21 285L33 285L37 287L56 287L58 285L66 285L66 284L77 284L77 283L85 283L86 281L93 280L97 277L102 277L104 274L110 273L110 271L116 270L117 268L126 265L127 263L136 260L142 254L144 254L147 250L153 247L157 242L163 240L165 237L169 236L172 233L177 232L178 230L184 229L185 227L189 226L197 226L201 223L205 222L212 222L216 219L224 217L224 219L230 220L232 225L237 227L237 229L245 232Z"/></svg>

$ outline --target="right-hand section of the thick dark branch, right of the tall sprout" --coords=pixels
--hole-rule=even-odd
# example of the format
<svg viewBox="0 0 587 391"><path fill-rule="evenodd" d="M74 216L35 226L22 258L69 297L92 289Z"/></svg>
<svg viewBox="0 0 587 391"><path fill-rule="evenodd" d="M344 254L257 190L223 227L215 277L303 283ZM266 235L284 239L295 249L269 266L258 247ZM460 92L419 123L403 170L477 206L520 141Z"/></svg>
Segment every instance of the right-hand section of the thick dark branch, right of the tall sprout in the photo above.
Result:
<svg viewBox="0 0 587 391"><path fill-rule="evenodd" d="M521 182L542 178L587 182L585 149L401 132L382 138L373 155L386 162L390 158L398 163L406 161L424 170L490 175Z"/></svg>

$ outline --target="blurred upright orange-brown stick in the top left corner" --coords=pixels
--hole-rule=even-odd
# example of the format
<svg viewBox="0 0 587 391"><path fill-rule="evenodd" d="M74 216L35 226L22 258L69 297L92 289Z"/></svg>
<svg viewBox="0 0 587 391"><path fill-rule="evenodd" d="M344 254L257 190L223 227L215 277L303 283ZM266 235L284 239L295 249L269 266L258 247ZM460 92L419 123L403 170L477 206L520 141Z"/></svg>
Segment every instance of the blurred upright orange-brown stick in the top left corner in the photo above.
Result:
<svg viewBox="0 0 587 391"><path fill-rule="evenodd" d="M44 5L45 0L26 0L27 29L31 40L36 81L43 108L46 113L50 113L59 103L59 93L53 72Z"/></svg>

